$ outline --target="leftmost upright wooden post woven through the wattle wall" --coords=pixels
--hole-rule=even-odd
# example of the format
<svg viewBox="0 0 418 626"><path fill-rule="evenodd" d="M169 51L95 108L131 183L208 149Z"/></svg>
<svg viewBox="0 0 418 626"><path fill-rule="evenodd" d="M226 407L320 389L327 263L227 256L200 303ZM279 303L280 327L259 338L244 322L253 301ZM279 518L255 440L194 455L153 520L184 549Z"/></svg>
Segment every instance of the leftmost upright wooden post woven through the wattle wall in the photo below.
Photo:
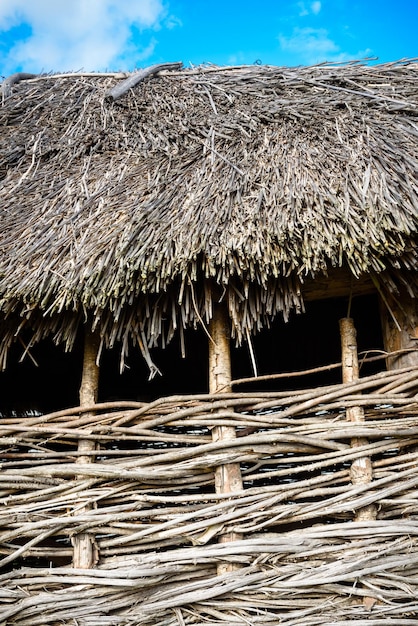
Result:
<svg viewBox="0 0 418 626"><path fill-rule="evenodd" d="M91 406L97 402L99 388L99 366L97 365L97 355L99 351L100 337L88 328L85 330L83 373L80 386L80 406ZM91 413L83 413L83 417ZM96 449L96 444L91 439L80 439L78 442L79 452L91 452ZM92 455L80 455L77 463L92 463ZM86 506L80 512L88 511ZM90 533L80 533L73 537L73 567L80 569L90 569L98 561L97 546L94 535Z"/></svg>

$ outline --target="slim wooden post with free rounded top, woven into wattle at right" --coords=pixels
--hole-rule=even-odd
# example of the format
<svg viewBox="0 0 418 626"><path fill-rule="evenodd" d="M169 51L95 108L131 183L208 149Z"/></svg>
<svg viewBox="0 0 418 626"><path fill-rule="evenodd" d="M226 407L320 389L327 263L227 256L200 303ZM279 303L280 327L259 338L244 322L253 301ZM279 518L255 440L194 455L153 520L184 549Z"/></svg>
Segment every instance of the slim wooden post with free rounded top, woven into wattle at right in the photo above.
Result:
<svg viewBox="0 0 418 626"><path fill-rule="evenodd" d="M359 365L357 352L357 333L351 318L340 320L341 355L342 355L342 378L344 383L355 382L359 379ZM361 423L365 421L362 407L355 406L346 409L347 420ZM351 445L354 448L368 444L366 437L353 437ZM353 485L365 485L372 481L373 467L370 457L355 459L350 468L351 482ZM373 504L362 507L355 513L354 520L365 521L376 519L376 507Z"/></svg>

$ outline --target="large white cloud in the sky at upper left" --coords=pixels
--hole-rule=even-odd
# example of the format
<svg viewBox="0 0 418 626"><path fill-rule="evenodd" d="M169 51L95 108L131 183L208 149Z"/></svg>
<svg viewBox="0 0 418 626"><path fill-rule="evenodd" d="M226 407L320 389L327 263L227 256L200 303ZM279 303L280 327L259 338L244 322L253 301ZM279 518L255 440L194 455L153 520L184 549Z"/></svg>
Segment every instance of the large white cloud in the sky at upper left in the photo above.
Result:
<svg viewBox="0 0 418 626"><path fill-rule="evenodd" d="M1 30L22 23L31 29L4 65L32 72L90 71L119 69L124 62L122 69L134 69L156 45L152 33L144 31L158 30L165 17L163 0L1 0ZM140 33L139 45L132 28Z"/></svg>

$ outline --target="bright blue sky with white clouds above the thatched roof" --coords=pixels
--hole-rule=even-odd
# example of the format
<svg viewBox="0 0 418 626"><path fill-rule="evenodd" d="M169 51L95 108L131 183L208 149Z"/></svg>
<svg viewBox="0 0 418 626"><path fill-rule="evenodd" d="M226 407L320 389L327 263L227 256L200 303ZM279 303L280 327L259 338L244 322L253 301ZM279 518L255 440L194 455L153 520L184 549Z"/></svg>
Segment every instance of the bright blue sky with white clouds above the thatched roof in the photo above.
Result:
<svg viewBox="0 0 418 626"><path fill-rule="evenodd" d="M418 0L0 0L0 76L418 56Z"/></svg>

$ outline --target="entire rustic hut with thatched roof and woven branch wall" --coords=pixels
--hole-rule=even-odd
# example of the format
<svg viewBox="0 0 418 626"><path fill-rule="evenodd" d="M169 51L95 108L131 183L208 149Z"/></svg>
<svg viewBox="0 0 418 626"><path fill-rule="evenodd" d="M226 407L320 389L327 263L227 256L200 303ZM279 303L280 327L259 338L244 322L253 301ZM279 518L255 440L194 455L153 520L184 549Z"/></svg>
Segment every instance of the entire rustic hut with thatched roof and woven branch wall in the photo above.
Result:
<svg viewBox="0 0 418 626"><path fill-rule="evenodd" d="M0 624L418 624L418 64L17 74Z"/></svg>

